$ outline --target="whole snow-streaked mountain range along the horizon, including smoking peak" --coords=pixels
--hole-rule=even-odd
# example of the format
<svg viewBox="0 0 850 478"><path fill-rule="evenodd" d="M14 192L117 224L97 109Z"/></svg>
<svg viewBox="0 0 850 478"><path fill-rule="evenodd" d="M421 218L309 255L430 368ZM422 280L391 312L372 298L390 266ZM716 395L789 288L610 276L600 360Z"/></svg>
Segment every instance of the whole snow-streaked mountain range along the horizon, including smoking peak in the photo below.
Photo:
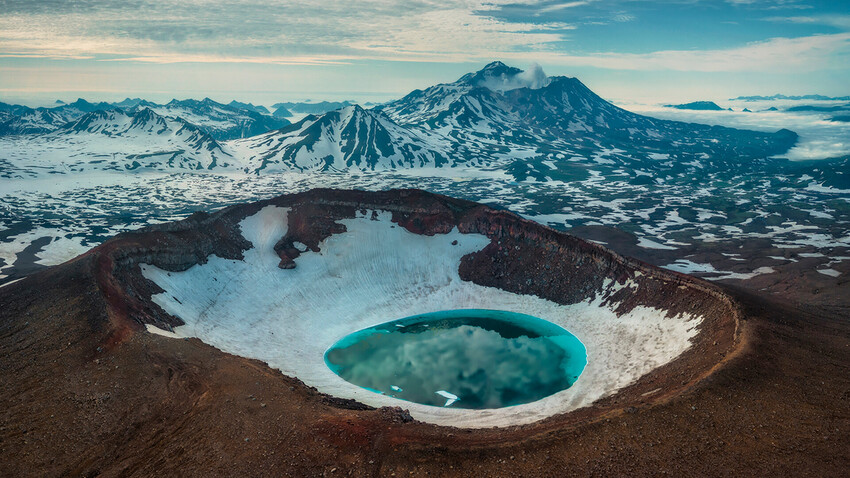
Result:
<svg viewBox="0 0 850 478"><path fill-rule="evenodd" d="M51 126L57 134L45 140L53 154L63 148L58 138L73 132L77 136L65 147L79 154L83 134L99 138L93 142L98 145L104 137L109 144L120 139L126 144L93 150L120 157L139 149L157 156L179 151L160 165L165 168L177 164L264 173L464 165L540 181L584 178L593 168L635 181L663 181L697 171L761 167L797 140L787 130L765 133L638 115L605 101L576 78L548 77L539 68L522 71L501 62L372 109L348 105L291 125L247 103L224 105L209 98L122 103L133 106L78 117L61 131ZM79 115L101 107L78 100L48 111ZM0 113L14 116L14 127L25 129L20 111L7 106ZM167 147L163 135L171 138ZM148 145L151 137L157 146L135 144ZM27 141L39 143L37 137Z"/></svg>

